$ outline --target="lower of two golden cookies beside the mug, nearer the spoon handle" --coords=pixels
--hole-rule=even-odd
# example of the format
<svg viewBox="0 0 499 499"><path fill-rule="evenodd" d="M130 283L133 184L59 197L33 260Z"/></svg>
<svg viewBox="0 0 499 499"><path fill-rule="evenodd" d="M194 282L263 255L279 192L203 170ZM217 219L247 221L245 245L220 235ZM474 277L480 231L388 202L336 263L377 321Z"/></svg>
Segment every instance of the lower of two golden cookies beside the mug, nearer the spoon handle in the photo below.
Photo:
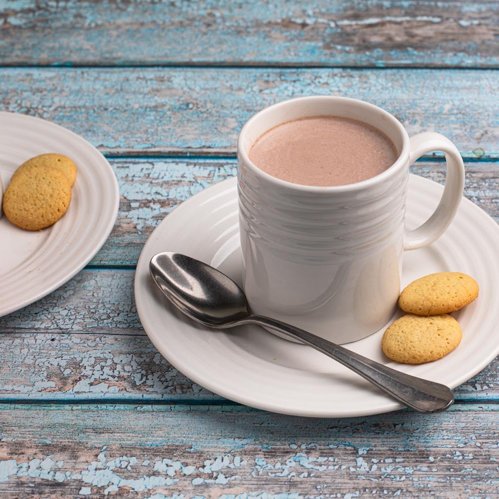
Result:
<svg viewBox="0 0 499 499"><path fill-rule="evenodd" d="M388 326L381 348L396 362L423 364L452 352L462 336L461 326L450 315L404 315Z"/></svg>

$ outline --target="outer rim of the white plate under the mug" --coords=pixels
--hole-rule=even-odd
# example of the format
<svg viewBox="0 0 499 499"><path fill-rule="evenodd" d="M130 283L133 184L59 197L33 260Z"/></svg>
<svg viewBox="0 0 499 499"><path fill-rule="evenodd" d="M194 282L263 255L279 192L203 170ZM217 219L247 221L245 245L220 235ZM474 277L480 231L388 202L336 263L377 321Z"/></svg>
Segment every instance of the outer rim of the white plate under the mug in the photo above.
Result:
<svg viewBox="0 0 499 499"><path fill-rule="evenodd" d="M421 182L423 185L424 184L431 184L433 186L438 186L438 188L443 192L444 186L441 184L427 179L425 177L421 177L419 175L415 174L410 174L411 179L416 182ZM232 185L234 184L234 186ZM137 313L139 316L139 319L141 321L142 326L144 327L144 331L146 332L147 336L149 337L150 341L154 344L154 346L158 349L160 354L176 369L178 369L180 372L182 372L186 377L188 377L190 380L192 380L194 383L199 384L211 392L227 398L229 400L232 400L234 402L240 403L240 404L245 404L249 407L253 407L256 409L264 410L264 411L269 411L269 412L274 412L278 414L285 414L285 415L290 415L290 416L298 416L298 417L319 417L319 418L347 418L347 417L361 417L361 416L371 416L375 414L383 414L386 412L392 412L400 409L406 409L406 406L403 404L400 404L396 401L391 401L390 399L387 399L386 404L380 404L376 407L374 407L372 410L366 409L359 407L357 409L352 408L348 412L337 412L333 413L331 411L322 411L322 410L307 410L304 407L296 407L296 410L283 410L280 408L278 405L273 405L273 404L267 404L267 403L258 403L257 400L255 400L253 397L245 397L244 393L238 393L235 389L233 391L226 390L224 387L220 388L216 383L212 382L211 380L204 379L201 375L198 376L196 373L195 369L192 369L190 367L190 364L188 363L188 360L185 362L182 362L181 358L178 358L178 356L173 356L171 352L168 351L168 349L165 349L164 344L161 344L161 342L155 337L153 333L150 333L148 331L148 328L150 326L148 318L144 317L143 312L141 311L142 309L142 300L147 299L147 292L143 291L141 292L139 290L139 279L141 277L141 270L142 267L149 262L144 263L145 260L145 254L147 252L147 248L150 242L152 242L154 239L158 238L158 234L161 232L162 227L168 224L167 219L170 217L174 212L177 214L176 216L182 216L183 212L186 209L189 209L193 204L195 205L196 202L198 204L202 203L204 201L205 196L209 196L209 191L210 189L217 190L220 189L220 193L217 193L220 195L223 192L223 187L228 189L233 189L237 185L237 177L233 177L230 179L223 180L222 182L218 182L217 184L210 186L203 191L195 194L194 196L191 196L189 199L181 203L178 207L176 207L172 212L167 214L163 220L158 224L158 226L154 229L154 231L151 233L149 238L147 239L146 243L144 244L144 247L141 251L140 257L137 262L137 267L136 267L136 272L135 272L135 277L134 277L134 296L135 296L135 303L137 307ZM203 196L204 195L204 196ZM195 201L193 201L195 198L197 198ZM499 235L499 225L494 221L494 219L486 213L484 210L482 210L479 206L477 206L475 203L473 203L471 200L468 198L464 197L462 198L462 203L460 205L460 208L458 209L461 210L462 204L465 203L470 209L472 209L476 216L482 217L484 220L487 220L487 223L493 228L493 230L496 231L496 233ZM151 243L152 244L152 243ZM147 274L149 274L149 271L147 270ZM186 318L186 320L189 320ZM151 328L152 329L152 328ZM482 371L485 367L487 367L499 354L499 342L496 344L496 346L492 349L489 350L489 354L487 356L484 356L480 362L477 362L474 364L473 368L470 368L467 372L463 373L460 377L456 377L453 381L453 383L449 383L448 386L451 389L454 389L461 384L465 383L469 379L471 379L473 376L478 374L480 371Z"/></svg>

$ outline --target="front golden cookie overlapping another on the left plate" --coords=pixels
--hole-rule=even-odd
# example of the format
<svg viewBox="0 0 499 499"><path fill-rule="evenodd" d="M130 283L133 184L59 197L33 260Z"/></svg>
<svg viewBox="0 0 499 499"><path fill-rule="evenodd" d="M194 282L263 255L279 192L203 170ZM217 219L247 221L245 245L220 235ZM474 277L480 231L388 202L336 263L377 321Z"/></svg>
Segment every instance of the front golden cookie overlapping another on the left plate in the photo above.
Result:
<svg viewBox="0 0 499 499"><path fill-rule="evenodd" d="M71 202L71 186L59 170L46 166L12 177L3 194L3 213L21 229L37 231L55 224Z"/></svg>

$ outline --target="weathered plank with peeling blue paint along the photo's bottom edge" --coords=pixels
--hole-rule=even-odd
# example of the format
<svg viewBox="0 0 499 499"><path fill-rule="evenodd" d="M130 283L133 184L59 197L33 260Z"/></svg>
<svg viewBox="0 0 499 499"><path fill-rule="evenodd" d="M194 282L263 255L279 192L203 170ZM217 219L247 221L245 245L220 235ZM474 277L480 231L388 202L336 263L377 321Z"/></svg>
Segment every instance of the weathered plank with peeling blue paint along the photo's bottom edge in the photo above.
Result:
<svg viewBox="0 0 499 499"><path fill-rule="evenodd" d="M241 406L1 405L0 491L3 499L497 499L498 407L466 408L313 420Z"/></svg>

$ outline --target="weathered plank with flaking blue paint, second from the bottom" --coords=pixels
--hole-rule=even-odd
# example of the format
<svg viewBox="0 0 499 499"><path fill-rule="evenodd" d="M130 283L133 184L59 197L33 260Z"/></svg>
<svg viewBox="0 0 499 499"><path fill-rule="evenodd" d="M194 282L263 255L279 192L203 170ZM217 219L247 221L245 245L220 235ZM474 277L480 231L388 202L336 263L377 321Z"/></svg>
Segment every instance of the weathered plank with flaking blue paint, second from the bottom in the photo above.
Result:
<svg viewBox="0 0 499 499"><path fill-rule="evenodd" d="M149 341L133 279L130 270L83 270L1 317L0 401L223 400L178 372ZM457 388L456 398L499 400L498 380L496 359Z"/></svg>

